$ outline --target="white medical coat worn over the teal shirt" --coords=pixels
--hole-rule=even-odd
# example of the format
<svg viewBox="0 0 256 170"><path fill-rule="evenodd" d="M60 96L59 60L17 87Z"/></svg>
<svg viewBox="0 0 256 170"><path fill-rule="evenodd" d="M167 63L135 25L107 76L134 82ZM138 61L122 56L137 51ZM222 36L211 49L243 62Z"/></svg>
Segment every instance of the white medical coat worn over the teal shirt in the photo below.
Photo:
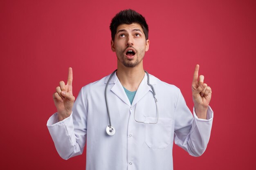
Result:
<svg viewBox="0 0 256 170"><path fill-rule="evenodd" d="M200 156L205 151L211 133L213 111L207 110L207 120L198 119L186 106L180 89L150 75L159 108L157 111L147 76L141 81L130 104L117 75L108 86L108 105L115 135L109 136L105 87L110 75L84 86L74 103L70 117L58 122L58 113L47 121L56 150L69 159L86 149L86 170L173 170L173 140L175 144Z"/></svg>

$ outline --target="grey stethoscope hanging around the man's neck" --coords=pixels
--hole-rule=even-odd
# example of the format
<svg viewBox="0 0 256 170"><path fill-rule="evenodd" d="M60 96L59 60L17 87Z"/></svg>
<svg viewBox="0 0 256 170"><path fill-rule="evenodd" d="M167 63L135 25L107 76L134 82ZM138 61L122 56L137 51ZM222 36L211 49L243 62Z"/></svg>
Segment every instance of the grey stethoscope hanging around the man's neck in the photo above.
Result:
<svg viewBox="0 0 256 170"><path fill-rule="evenodd" d="M116 130L115 130L114 126L111 125L110 113L109 113L109 108L108 108L108 96L107 96L107 91L108 91L108 84L109 84L109 82L110 82L110 79L112 78L112 76L115 74L116 71L117 71L117 70L115 70L115 71L110 75L110 77L109 77L109 79L108 79L108 82L107 82L107 85L106 85L106 88L105 88L105 100L106 100L106 105L107 105L107 110L108 110L108 120L109 120L109 125L106 127L106 132L107 132L107 134L110 135L110 136L114 135L115 132L116 132ZM144 71L145 71L145 70L144 70ZM137 121L137 120L135 119L135 113L136 113L136 108L137 108L137 105L138 105L138 104L136 104L136 106L135 106L135 110L134 110L134 119L135 119L135 121L137 121L138 123L157 124L158 118L159 118L159 113L158 113L158 106L157 106L157 98L155 97L155 89L154 89L153 85L149 83L149 75L148 75L148 72L145 71L145 73L146 73L146 75L147 75L147 77L148 77L148 82L147 82L147 84L148 84L148 86L150 86L150 88L151 88L152 91L153 91L152 93L153 93L153 95L154 95L155 105L156 105L156 107L157 107L157 121L156 121L156 122L153 122L153 123L152 123L152 122L149 122L149 121Z"/></svg>

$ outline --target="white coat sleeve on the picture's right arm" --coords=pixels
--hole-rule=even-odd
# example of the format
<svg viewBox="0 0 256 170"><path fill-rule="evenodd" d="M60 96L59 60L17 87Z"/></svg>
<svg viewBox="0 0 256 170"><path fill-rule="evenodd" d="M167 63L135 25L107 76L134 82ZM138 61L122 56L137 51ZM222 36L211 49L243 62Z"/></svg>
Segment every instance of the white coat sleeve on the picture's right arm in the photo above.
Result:
<svg viewBox="0 0 256 170"><path fill-rule="evenodd" d="M210 139L213 111L207 110L207 119L199 119L193 108L192 116L181 92L175 108L175 144L198 157L204 153Z"/></svg>

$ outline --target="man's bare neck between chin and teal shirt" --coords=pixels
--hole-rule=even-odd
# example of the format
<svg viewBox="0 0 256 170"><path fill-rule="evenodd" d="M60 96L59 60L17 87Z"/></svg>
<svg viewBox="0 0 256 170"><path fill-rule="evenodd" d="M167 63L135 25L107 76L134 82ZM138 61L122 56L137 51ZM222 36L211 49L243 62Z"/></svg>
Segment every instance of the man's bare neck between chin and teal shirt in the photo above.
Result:
<svg viewBox="0 0 256 170"><path fill-rule="evenodd" d="M142 61L135 67L126 67L123 64L117 64L117 77L122 86L124 86L128 91L137 91L144 75L145 72Z"/></svg>

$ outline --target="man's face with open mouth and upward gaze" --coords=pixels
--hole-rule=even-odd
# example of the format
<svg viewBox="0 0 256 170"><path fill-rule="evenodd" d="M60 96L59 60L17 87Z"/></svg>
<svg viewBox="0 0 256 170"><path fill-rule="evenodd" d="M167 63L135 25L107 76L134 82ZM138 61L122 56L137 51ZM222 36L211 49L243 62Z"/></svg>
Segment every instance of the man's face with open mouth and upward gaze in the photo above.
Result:
<svg viewBox="0 0 256 170"><path fill-rule="evenodd" d="M126 67L142 64L149 40L146 40L141 26L137 23L121 24L117 27L115 42L111 40L111 49L117 55L117 62Z"/></svg>

